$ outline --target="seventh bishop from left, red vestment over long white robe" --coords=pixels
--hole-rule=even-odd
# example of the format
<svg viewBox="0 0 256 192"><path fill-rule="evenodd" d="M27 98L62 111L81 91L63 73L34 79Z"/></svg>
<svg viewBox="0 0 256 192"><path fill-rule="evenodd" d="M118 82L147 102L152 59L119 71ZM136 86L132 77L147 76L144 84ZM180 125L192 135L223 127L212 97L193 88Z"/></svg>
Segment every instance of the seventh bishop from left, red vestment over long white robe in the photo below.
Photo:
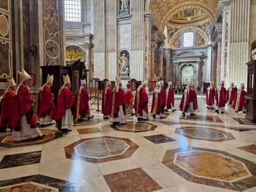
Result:
<svg viewBox="0 0 256 192"><path fill-rule="evenodd" d="M113 88L110 122L116 124L127 124L125 118L124 90L121 79L116 77L116 86Z"/></svg>

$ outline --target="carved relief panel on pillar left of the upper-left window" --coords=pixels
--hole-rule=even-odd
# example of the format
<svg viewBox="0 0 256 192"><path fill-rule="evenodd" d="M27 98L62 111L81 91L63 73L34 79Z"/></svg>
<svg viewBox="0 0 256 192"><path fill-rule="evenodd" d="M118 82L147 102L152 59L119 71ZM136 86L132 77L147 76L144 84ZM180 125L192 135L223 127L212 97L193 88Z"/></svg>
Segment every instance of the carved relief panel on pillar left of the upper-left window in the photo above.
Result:
<svg viewBox="0 0 256 192"><path fill-rule="evenodd" d="M61 65L61 1L44 0L45 64Z"/></svg>

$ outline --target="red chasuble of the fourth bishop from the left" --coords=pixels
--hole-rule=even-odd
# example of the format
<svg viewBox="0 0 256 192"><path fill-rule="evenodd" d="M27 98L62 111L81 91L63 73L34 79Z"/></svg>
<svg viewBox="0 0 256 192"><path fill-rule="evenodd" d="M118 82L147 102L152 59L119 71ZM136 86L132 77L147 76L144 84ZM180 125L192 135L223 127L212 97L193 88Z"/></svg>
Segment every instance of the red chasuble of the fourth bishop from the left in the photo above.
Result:
<svg viewBox="0 0 256 192"><path fill-rule="evenodd" d="M72 109L74 107L74 96L70 89L67 87L64 87L61 89L58 97L58 104L56 106L56 113L54 115L55 120L61 120L63 115L65 114L65 111L67 109ZM72 110L73 116L74 110Z"/></svg>

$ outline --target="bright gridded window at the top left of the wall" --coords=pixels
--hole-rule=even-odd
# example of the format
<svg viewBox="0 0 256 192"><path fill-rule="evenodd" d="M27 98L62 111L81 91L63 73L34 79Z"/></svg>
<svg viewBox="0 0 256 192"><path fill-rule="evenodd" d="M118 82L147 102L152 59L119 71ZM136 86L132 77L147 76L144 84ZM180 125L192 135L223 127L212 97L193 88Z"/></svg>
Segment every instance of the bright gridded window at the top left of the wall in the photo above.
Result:
<svg viewBox="0 0 256 192"><path fill-rule="evenodd" d="M81 22L81 0L65 0L65 20Z"/></svg>

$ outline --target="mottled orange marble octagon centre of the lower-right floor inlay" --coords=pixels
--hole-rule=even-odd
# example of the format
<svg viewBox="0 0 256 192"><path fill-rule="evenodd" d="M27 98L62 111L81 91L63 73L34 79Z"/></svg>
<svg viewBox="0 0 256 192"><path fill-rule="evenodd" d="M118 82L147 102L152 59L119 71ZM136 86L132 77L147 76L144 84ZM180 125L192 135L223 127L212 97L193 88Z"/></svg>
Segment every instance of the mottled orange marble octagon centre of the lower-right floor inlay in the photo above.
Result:
<svg viewBox="0 0 256 192"><path fill-rule="evenodd" d="M250 177L243 163L222 154L191 150L175 154L173 161L180 168L198 177L234 181Z"/></svg>

